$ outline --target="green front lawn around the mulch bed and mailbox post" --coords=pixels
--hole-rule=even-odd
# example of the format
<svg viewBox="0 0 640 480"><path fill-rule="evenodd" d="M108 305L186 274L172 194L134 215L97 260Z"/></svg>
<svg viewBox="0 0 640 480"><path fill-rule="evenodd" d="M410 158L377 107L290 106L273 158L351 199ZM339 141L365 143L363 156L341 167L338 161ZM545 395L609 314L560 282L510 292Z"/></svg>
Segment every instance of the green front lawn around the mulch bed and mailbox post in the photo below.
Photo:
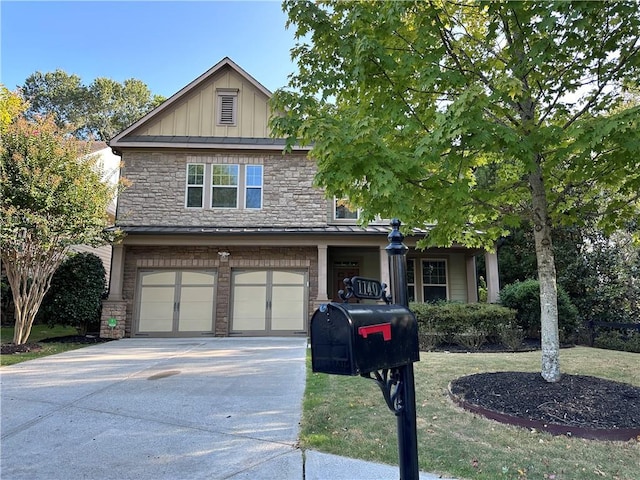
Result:
<svg viewBox="0 0 640 480"><path fill-rule="evenodd" d="M564 349L567 374L640 386L640 355ZM640 479L640 439L602 442L554 437L503 425L456 407L451 380L491 371L539 371L540 352L423 352L415 364L420 469L459 479ZM360 377L313 374L308 367L303 448L397 465L396 419L377 385Z"/></svg>

